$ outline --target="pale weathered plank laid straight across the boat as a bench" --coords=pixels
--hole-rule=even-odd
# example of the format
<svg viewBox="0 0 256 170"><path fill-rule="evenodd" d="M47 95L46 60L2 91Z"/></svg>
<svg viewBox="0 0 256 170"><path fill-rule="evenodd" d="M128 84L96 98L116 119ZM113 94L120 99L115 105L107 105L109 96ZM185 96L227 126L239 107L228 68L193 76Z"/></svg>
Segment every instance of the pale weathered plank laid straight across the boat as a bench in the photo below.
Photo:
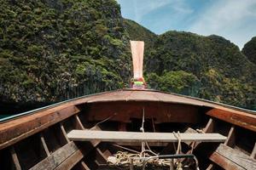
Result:
<svg viewBox="0 0 256 170"><path fill-rule="evenodd" d="M99 139L103 142L177 142L173 133L134 133L119 131L72 130L67 137L74 141ZM180 133L183 142L224 142L226 137L218 133Z"/></svg>

